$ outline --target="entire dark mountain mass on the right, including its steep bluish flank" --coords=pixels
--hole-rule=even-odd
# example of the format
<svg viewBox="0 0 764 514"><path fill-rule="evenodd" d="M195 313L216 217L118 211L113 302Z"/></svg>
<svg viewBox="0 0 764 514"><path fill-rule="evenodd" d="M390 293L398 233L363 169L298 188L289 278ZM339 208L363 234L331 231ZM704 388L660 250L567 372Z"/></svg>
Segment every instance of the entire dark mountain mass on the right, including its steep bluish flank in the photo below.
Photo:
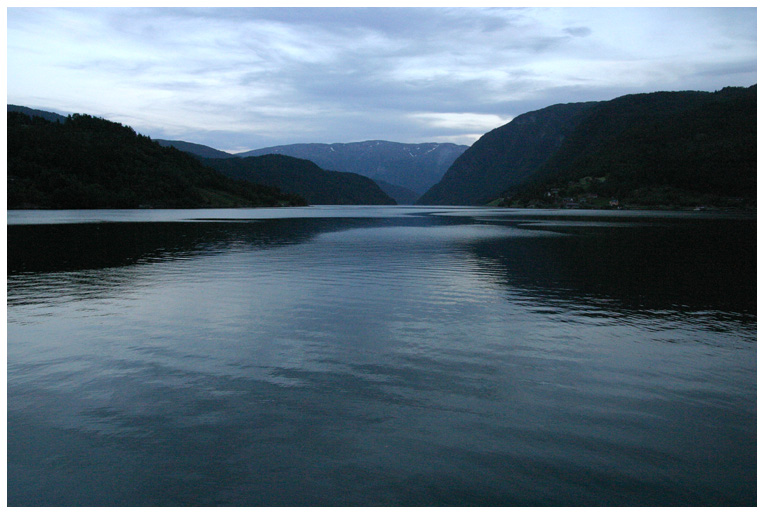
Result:
<svg viewBox="0 0 764 514"><path fill-rule="evenodd" d="M627 95L518 116L477 141L420 204L750 205L756 86Z"/></svg>

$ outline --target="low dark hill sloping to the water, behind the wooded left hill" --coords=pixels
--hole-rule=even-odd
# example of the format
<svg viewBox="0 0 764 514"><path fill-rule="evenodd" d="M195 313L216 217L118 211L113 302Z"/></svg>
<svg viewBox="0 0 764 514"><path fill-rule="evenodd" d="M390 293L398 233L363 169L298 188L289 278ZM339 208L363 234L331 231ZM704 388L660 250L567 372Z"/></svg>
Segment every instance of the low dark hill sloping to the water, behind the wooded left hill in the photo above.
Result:
<svg viewBox="0 0 764 514"><path fill-rule="evenodd" d="M274 186L313 205L395 205L370 178L324 170L306 159L268 154L202 162L227 177Z"/></svg>

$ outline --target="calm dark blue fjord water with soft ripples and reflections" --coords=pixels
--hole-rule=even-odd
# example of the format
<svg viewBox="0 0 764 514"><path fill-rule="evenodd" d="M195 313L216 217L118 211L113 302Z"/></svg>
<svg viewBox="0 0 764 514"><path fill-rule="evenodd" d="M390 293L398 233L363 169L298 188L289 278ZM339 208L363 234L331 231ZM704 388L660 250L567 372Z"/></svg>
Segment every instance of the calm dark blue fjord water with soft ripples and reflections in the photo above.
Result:
<svg viewBox="0 0 764 514"><path fill-rule="evenodd" d="M10 505L754 505L756 221L8 213Z"/></svg>

